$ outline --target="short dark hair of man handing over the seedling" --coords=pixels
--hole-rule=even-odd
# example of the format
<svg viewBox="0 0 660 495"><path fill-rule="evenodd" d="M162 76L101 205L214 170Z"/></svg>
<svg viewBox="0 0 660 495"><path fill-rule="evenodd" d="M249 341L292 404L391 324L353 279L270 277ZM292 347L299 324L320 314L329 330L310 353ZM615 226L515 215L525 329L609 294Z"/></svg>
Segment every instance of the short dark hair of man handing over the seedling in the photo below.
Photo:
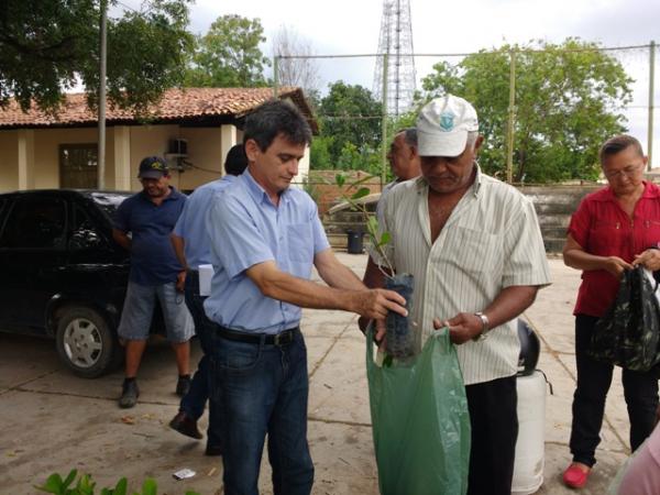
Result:
<svg viewBox="0 0 660 495"><path fill-rule="evenodd" d="M245 118L243 144L254 140L260 150L265 152L279 134L294 144L311 143L311 129L293 103L271 100Z"/></svg>

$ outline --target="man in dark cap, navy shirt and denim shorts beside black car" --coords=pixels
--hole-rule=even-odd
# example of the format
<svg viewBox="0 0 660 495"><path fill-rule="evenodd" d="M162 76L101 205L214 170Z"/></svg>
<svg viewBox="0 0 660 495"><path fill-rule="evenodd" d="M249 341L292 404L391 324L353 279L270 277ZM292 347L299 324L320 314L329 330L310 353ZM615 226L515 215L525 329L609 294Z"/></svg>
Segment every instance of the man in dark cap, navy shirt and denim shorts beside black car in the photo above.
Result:
<svg viewBox="0 0 660 495"><path fill-rule="evenodd" d="M125 345L125 380L119 406L133 407L140 391L135 377L146 346L156 304L163 309L167 339L178 367L176 393L186 395L190 387L190 346L193 318L177 290L184 270L178 262L169 233L186 204L186 196L169 186L167 163L147 156L138 175L142 191L124 200L117 210L112 237L131 252L131 274L118 333ZM129 235L130 234L130 235Z"/></svg>

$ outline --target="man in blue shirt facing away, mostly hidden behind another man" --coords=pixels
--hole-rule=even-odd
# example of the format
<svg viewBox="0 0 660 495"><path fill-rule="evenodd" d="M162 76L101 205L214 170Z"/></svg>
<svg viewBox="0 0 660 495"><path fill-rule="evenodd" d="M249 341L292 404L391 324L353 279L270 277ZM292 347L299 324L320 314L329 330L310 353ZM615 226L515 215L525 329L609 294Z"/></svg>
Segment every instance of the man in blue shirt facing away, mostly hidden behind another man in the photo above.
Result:
<svg viewBox="0 0 660 495"><path fill-rule="evenodd" d="M184 266L184 271L178 277L177 288L185 292L186 305L195 320L195 332L204 355L197 365L190 389L182 398L179 411L169 421L169 426L179 433L198 440L202 436L197 428L197 420L204 414L204 407L207 398L209 398L209 339L212 331L210 329L212 322L204 312L206 296L199 294L199 266L211 263L211 245L206 230L206 213L213 195L231 186L246 166L248 157L243 145L232 146L224 160L227 175L195 189L195 193L186 201L186 206L170 235L174 251L179 263ZM209 428L205 451L207 455L220 455L222 453L219 435L217 428L215 428L216 407L215 402L210 400Z"/></svg>

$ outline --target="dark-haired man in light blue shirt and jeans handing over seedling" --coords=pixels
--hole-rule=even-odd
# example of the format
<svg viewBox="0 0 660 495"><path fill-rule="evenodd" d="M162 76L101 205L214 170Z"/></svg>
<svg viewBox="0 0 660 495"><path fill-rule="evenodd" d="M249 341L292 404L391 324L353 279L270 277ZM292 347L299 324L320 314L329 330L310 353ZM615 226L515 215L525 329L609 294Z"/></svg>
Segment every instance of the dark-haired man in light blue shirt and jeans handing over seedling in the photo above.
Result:
<svg viewBox="0 0 660 495"><path fill-rule="evenodd" d="M274 493L308 495L307 351L300 307L343 309L382 320L407 315L405 299L369 290L336 258L316 204L289 188L311 141L289 103L272 101L245 120L249 166L213 198L207 229L215 275L205 301L217 323L212 393L221 404L224 493L257 494L266 435ZM309 280L316 266L329 287Z"/></svg>

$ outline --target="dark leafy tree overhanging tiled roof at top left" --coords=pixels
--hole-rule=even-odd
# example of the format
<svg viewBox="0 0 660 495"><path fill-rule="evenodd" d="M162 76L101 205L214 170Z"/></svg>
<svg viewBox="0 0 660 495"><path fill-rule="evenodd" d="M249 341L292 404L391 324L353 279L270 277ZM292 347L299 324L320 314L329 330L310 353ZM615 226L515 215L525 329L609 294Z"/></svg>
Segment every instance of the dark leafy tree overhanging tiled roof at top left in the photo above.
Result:
<svg viewBox="0 0 660 495"><path fill-rule="evenodd" d="M141 12L108 19L108 98L143 110L182 79L193 36L189 0L150 0ZM116 1L110 0L110 4ZM85 85L95 107L99 86L98 0L4 0L0 3L0 106L14 97L56 112L63 91Z"/></svg>

